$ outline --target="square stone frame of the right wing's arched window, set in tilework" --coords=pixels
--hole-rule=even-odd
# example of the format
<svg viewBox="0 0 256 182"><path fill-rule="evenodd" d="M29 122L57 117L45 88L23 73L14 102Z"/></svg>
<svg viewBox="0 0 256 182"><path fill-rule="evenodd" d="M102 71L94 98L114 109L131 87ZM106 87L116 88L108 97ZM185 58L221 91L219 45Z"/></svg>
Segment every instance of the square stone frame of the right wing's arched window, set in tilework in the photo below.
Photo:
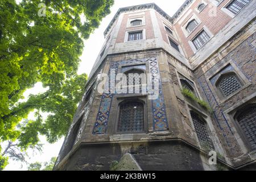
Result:
<svg viewBox="0 0 256 182"><path fill-rule="evenodd" d="M231 65L233 67L233 71L231 72L234 72L236 73L237 77L240 78L240 81L243 83L243 86L236 90L236 92L233 92L232 94L230 94L228 97L223 97L222 94L220 93L220 90L218 90L217 86L216 86L216 83L218 81L218 79L220 78L220 76L222 75L225 75L227 73L230 73L230 72L225 72L225 73L220 73L220 71L227 67L228 65ZM217 80L214 82L214 85L212 84L212 82L210 82L210 79L213 77L213 76L218 76ZM212 90L212 93L213 93L213 96L214 98L216 98L218 104L222 104L223 102L225 102L226 100L229 100L229 98L233 97L234 95L236 95L238 92L241 92L241 90L247 88L247 86L251 85L251 82L246 78L245 75L243 75L243 73L240 71L240 69L237 67L236 64L234 64L234 62L232 61L232 59L230 59L229 61L227 61L224 65L222 65L220 68L216 69L216 71L213 71L212 74L210 74L208 77L207 77L207 83L209 85L209 88L210 90Z"/></svg>

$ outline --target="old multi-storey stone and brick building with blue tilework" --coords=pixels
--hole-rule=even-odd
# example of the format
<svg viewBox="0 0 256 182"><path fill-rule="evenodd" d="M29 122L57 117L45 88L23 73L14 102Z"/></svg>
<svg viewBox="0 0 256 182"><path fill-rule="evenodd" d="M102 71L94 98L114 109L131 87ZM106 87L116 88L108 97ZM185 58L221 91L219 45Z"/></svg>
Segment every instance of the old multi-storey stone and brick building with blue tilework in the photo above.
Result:
<svg viewBox="0 0 256 182"><path fill-rule="evenodd" d="M187 0L172 17L155 3L119 9L55 169L256 170L255 9L252 0ZM109 92L104 73L151 73L158 97Z"/></svg>

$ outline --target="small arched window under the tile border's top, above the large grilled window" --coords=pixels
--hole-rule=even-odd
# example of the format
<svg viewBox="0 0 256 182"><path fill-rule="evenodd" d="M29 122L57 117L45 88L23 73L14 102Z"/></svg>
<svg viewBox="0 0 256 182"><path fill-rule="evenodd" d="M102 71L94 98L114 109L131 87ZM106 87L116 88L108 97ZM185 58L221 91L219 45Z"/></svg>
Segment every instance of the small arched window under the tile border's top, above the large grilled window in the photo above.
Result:
<svg viewBox="0 0 256 182"><path fill-rule="evenodd" d="M133 88L133 93L136 93L138 89L139 93L142 92L142 76L143 71L139 69L131 69L125 73L126 75L126 84L127 84L127 93L129 92L129 87Z"/></svg>

